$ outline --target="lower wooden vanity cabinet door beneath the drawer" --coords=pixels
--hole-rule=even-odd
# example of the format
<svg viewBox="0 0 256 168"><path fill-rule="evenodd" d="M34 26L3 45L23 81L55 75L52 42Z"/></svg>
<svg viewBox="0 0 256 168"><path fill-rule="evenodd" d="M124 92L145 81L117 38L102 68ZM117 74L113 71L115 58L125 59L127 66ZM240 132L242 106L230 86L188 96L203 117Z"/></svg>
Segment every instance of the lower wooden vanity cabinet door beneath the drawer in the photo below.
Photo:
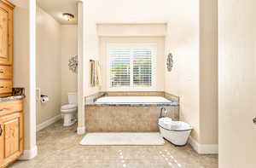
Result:
<svg viewBox="0 0 256 168"><path fill-rule="evenodd" d="M2 135L0 136L0 168L18 159L23 151L23 116L12 113L0 117Z"/></svg>

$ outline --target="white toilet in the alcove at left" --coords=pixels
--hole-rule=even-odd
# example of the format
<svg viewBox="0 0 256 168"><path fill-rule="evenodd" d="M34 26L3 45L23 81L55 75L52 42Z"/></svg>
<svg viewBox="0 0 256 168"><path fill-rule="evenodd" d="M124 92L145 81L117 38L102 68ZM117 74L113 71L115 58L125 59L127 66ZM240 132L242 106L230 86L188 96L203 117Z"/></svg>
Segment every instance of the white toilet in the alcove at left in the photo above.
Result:
<svg viewBox="0 0 256 168"><path fill-rule="evenodd" d="M61 115L64 118L63 126L76 123L78 113L78 96L75 92L68 93L68 104L61 106Z"/></svg>

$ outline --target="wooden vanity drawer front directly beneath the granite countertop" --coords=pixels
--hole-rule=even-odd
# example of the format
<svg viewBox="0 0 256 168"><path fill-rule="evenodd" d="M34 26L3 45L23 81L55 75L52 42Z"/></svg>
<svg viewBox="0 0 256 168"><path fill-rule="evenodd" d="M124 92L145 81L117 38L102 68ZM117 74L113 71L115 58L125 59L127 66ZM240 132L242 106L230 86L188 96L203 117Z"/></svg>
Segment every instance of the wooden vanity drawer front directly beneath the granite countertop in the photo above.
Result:
<svg viewBox="0 0 256 168"><path fill-rule="evenodd" d="M23 111L23 103L21 100L0 102L0 116L6 115L9 113L22 112L22 111Z"/></svg>

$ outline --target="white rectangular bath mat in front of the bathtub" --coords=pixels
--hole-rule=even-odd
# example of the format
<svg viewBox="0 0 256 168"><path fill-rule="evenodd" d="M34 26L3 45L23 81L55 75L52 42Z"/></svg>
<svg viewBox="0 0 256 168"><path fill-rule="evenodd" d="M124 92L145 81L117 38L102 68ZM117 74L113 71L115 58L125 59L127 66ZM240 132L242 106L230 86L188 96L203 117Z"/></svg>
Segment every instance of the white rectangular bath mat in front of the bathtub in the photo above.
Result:
<svg viewBox="0 0 256 168"><path fill-rule="evenodd" d="M81 145L164 145L164 143L158 132L88 133L80 142Z"/></svg>

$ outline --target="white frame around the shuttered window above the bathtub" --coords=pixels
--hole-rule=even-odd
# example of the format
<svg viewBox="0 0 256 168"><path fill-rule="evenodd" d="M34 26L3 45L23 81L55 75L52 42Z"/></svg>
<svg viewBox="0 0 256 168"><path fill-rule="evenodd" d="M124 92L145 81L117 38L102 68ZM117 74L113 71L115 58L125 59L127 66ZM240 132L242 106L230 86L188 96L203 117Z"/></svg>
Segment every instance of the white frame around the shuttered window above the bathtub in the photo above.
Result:
<svg viewBox="0 0 256 168"><path fill-rule="evenodd" d="M148 87L111 87L110 84L110 49L153 49L152 54L152 67L151 67L151 86ZM107 90L108 91L155 91L156 90L156 56L157 56L157 43L107 43ZM132 61L131 61L132 62ZM131 76L130 79L133 80L133 63L131 64Z"/></svg>

